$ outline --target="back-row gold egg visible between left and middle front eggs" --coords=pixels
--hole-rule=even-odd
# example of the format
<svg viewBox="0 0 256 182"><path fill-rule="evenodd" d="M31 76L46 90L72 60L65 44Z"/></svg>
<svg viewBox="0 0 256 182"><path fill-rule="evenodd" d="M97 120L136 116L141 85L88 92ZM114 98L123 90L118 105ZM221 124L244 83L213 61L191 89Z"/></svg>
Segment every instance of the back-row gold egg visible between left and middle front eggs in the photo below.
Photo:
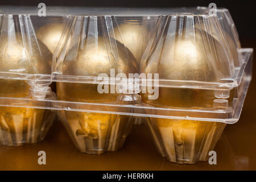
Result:
<svg viewBox="0 0 256 182"><path fill-rule="evenodd" d="M48 49L53 54L57 44L60 41L63 31L64 23L48 23L36 31L36 36L48 47Z"/></svg>

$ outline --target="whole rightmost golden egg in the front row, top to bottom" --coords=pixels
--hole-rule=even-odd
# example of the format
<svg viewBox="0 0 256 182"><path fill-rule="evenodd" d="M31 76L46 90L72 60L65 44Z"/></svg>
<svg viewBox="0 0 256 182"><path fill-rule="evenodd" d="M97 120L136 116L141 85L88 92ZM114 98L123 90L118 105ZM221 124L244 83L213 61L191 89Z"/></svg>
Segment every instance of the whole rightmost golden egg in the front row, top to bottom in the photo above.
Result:
<svg viewBox="0 0 256 182"><path fill-rule="evenodd" d="M143 72L159 73L159 78L166 80L209 82L220 81L232 74L229 57L213 36L196 31L191 39L189 35L184 37L167 36L163 46L156 48L155 53L143 62ZM210 44L205 42L206 37ZM148 94L142 94L144 103L167 108L213 107L214 99L214 90L204 89L159 88L156 100L148 100ZM156 114L160 114L158 110ZM149 118L148 125L159 151L176 163L206 160L225 127L225 123L164 118Z"/></svg>

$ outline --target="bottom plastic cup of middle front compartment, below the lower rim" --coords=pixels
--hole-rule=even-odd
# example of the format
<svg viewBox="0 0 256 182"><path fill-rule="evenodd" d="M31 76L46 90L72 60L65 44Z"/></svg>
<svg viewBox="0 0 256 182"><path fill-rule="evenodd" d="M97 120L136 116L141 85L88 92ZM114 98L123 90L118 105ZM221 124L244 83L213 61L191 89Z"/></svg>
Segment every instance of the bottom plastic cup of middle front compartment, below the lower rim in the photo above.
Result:
<svg viewBox="0 0 256 182"><path fill-rule="evenodd" d="M117 151L133 126L127 115L61 110L59 116L75 146L86 154Z"/></svg>

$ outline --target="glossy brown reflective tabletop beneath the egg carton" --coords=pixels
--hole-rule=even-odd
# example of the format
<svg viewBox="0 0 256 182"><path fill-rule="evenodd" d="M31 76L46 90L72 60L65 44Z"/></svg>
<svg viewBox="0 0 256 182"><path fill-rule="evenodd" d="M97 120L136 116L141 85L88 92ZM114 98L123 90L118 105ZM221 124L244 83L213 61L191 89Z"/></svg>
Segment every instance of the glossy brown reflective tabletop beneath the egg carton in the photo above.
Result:
<svg viewBox="0 0 256 182"><path fill-rule="evenodd" d="M256 41L242 47L256 49ZM255 56L254 56L255 60ZM254 64L254 73L256 76ZM0 146L0 170L256 170L256 80L253 78L240 121L227 125L215 151L217 164L175 164L162 158L144 125L135 125L125 145L104 155L82 154L56 120L43 142L22 147ZM46 151L46 165L38 152Z"/></svg>

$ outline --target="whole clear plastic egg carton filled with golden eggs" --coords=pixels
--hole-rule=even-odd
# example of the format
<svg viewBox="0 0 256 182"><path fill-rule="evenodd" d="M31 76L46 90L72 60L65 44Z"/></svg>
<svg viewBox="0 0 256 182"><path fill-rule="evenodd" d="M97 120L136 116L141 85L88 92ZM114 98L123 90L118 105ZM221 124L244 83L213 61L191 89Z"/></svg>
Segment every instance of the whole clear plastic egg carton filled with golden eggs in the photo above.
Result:
<svg viewBox="0 0 256 182"><path fill-rule="evenodd" d="M56 110L81 152L118 150L146 118L160 154L192 164L240 118L253 49L241 48L226 9L0 9L0 78L14 86L0 106L35 120Z"/></svg>

